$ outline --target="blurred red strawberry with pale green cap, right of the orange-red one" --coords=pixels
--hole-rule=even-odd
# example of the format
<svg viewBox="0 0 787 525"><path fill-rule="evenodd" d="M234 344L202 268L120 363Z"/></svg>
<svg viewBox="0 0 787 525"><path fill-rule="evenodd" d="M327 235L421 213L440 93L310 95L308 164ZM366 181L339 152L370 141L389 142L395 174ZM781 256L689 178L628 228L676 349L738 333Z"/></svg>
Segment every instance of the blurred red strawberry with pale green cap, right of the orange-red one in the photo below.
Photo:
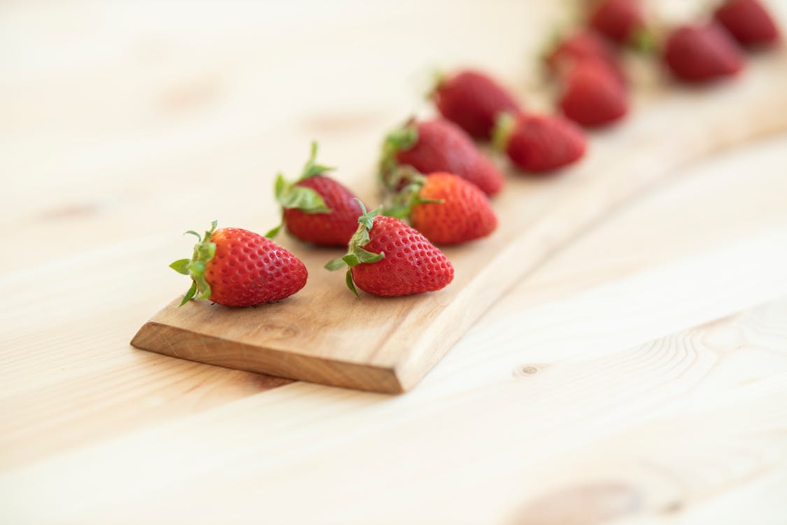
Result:
<svg viewBox="0 0 787 525"><path fill-rule="evenodd" d="M551 172L585 154L582 129L560 116L505 115L495 129L495 147L526 172Z"/></svg>

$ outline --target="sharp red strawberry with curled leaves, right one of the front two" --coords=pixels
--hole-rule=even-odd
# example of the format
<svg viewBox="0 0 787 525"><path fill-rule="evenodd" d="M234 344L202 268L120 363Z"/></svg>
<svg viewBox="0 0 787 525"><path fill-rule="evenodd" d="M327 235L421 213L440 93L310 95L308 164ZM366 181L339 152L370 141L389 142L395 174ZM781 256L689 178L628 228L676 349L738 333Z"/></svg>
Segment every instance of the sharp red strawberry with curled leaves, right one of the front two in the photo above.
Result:
<svg viewBox="0 0 787 525"><path fill-rule="evenodd" d="M363 207L363 206L362 206ZM453 280L453 266L437 246L395 217L379 216L380 209L358 219L347 254L325 268L349 266L345 282L379 297L400 297L440 290Z"/></svg>

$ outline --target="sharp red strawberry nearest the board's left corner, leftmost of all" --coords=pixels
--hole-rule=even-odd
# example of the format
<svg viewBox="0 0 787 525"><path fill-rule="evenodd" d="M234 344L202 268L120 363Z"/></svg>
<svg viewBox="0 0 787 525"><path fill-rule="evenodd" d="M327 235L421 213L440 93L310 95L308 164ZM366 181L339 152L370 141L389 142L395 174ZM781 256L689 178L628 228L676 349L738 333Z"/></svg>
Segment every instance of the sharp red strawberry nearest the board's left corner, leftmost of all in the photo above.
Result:
<svg viewBox="0 0 787 525"><path fill-rule="evenodd" d="M306 267L300 259L275 242L253 231L227 227L216 230L216 221L194 246L190 259L170 268L190 275L193 283L181 306L196 295L224 306L253 306L280 301L306 284Z"/></svg>

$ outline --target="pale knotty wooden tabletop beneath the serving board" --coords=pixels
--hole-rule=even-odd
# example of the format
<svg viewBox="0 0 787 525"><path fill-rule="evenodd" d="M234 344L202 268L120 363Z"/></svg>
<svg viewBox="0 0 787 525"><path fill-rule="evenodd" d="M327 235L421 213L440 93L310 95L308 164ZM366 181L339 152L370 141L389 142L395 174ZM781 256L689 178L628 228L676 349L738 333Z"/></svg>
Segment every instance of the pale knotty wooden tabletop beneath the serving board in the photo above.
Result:
<svg viewBox="0 0 787 525"><path fill-rule="evenodd" d="M3 523L787 520L787 136L675 173L589 231L409 394L289 383L127 340L182 287L172 231L205 220L209 176L267 195L315 134L363 176L379 136L360 130L399 118L418 64L392 58L361 75L371 94L334 83L296 108L254 96L258 61L269 82L301 72L256 47L251 7L0 9L6 243L24 248L0 263ZM526 8L457 9L497 32L470 49L449 28L368 31L423 61L489 55L515 80L523 55L490 50L535 39ZM290 51L355 49L310 42ZM268 205L252 193L210 211L263 229L274 212L244 211Z"/></svg>

